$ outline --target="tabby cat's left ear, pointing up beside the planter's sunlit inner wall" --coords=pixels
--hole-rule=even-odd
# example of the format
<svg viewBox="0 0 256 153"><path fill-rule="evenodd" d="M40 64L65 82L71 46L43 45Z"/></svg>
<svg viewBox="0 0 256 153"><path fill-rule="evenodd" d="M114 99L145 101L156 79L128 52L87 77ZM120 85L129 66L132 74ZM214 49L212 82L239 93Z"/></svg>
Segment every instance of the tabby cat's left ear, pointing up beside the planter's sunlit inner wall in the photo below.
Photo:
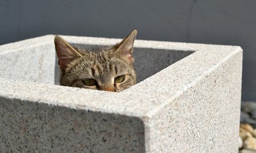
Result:
<svg viewBox="0 0 256 153"><path fill-rule="evenodd" d="M54 38L55 50L59 59L59 66L61 71L65 71L68 64L74 59L82 55L77 52L67 41L63 40L60 36Z"/></svg>

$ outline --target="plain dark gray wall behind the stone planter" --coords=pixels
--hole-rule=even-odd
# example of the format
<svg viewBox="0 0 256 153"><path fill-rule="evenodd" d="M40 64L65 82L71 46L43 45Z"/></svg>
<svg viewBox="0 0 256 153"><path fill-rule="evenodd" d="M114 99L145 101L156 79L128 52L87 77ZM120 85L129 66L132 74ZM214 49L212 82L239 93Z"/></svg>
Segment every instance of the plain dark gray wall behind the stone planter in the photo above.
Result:
<svg viewBox="0 0 256 153"><path fill-rule="evenodd" d="M243 99L256 101L255 0L1 0L0 44L44 34L240 45Z"/></svg>

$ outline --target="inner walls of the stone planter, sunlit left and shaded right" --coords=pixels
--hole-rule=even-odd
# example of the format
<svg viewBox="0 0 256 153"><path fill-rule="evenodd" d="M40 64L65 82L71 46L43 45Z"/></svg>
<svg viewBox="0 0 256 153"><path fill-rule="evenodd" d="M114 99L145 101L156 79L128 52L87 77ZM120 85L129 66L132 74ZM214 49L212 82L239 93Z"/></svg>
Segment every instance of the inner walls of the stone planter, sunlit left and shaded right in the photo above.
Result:
<svg viewBox="0 0 256 153"><path fill-rule="evenodd" d="M100 48L100 45L72 44L79 48ZM134 69L141 82L193 51L134 48ZM53 44L24 47L0 54L0 78L59 85L60 69Z"/></svg>

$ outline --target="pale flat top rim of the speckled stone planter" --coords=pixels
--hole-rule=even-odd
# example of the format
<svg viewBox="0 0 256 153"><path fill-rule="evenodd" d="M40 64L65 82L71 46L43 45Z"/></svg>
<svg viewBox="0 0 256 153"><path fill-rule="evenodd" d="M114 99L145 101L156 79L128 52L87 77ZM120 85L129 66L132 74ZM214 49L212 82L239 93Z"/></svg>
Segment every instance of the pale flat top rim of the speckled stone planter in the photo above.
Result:
<svg viewBox="0 0 256 153"><path fill-rule="evenodd" d="M63 38L70 43L88 45L113 45L121 40L85 36ZM53 40L54 35L46 35L1 45L0 55L19 52L24 47L54 47ZM230 57L243 52L241 47L237 46L148 40L136 40L134 47L195 52L119 93L0 78L0 96L85 111L116 113L147 121Z"/></svg>

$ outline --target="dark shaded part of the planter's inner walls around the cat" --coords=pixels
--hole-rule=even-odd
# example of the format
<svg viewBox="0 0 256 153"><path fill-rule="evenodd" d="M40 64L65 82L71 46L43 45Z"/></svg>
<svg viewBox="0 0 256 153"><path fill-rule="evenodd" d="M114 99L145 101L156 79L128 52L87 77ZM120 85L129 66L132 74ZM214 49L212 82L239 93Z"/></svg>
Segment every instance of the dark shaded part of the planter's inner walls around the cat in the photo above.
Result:
<svg viewBox="0 0 256 153"><path fill-rule="evenodd" d="M99 48L97 45L72 44L72 46L84 49ZM172 65L174 62L187 57L195 51L164 50L155 48L134 48L134 69L137 75L137 83L156 74L162 69ZM60 69L58 58L55 64L55 84L59 85Z"/></svg>

